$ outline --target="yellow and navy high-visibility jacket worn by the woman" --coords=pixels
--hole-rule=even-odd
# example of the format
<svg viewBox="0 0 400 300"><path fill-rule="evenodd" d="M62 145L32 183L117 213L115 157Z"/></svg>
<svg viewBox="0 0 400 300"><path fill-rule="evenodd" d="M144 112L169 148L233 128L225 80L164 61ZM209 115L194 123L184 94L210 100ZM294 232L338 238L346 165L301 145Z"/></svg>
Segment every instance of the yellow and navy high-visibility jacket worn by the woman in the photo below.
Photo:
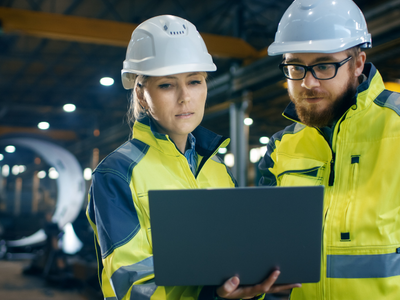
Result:
<svg viewBox="0 0 400 300"><path fill-rule="evenodd" d="M154 189L235 187L230 171L215 155L229 139L202 127L193 135L195 176L170 138L150 129L148 118L136 121L133 139L94 171L86 214L96 237L105 299L197 299L202 292L200 286L154 284L148 204L148 191Z"/></svg>

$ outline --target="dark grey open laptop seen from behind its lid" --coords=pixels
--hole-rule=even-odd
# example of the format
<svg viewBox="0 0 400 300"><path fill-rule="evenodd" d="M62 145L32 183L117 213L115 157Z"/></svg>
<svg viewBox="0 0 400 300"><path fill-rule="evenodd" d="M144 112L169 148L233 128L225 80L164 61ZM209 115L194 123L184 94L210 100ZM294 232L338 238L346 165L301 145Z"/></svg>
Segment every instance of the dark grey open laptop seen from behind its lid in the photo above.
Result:
<svg viewBox="0 0 400 300"><path fill-rule="evenodd" d="M149 191L155 283L320 280L323 186Z"/></svg>

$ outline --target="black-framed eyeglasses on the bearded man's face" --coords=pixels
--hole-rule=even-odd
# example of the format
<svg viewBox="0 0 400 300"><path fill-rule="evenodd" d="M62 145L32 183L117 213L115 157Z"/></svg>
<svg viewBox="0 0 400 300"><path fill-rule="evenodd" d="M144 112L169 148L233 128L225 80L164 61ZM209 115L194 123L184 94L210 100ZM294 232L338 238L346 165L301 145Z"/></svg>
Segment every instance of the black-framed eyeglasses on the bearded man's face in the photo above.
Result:
<svg viewBox="0 0 400 300"><path fill-rule="evenodd" d="M283 64L279 65L279 68L282 70L283 75L290 80L302 80L307 75L307 71L310 71L311 74L318 80L328 80L332 79L336 76L337 70L347 63L352 57L342 60L341 62L336 63L322 63L315 64L312 66L305 66L299 64Z"/></svg>

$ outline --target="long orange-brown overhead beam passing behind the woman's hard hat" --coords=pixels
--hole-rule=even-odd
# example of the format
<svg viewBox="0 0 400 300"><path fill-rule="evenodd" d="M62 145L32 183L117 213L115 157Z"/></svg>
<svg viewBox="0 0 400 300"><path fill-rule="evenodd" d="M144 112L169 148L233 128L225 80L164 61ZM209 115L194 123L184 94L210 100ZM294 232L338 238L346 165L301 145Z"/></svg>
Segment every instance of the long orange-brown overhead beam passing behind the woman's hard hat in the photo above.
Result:
<svg viewBox="0 0 400 300"><path fill-rule="evenodd" d="M4 33L22 33L42 38L117 47L128 45L137 24L66 16L0 7ZM201 34L211 55L232 58L257 58L258 52L244 40L215 34Z"/></svg>

